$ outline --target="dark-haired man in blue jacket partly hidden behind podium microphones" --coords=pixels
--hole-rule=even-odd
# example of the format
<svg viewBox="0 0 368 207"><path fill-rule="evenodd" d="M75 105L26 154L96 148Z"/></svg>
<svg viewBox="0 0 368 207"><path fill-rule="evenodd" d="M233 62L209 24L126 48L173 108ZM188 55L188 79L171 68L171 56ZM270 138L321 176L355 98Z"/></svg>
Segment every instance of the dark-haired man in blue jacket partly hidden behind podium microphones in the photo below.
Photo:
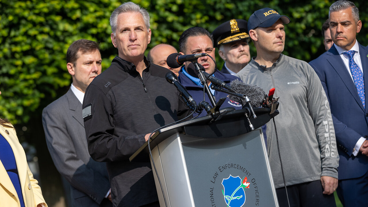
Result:
<svg viewBox="0 0 368 207"><path fill-rule="evenodd" d="M207 53L209 56L215 58L215 48L213 47L212 35L202 27L191 27L185 30L179 38L179 48L181 55ZM213 62L213 60L208 56L198 58L198 63L204 67L206 73L211 74L213 71L215 71L215 62ZM184 66L179 71L178 81L188 90L194 100L199 103L203 101L203 85L201 84L201 81L199 80L195 70L190 65L192 64L189 64L189 62L184 63ZM229 85L230 81L238 79L236 76L224 74L218 70L215 71L213 76ZM210 85L209 81L208 85ZM226 98L221 108L242 108L241 103L230 100L228 94L212 89L210 90L215 96L216 101L219 101L219 99L223 97ZM205 101L211 103L207 94L205 94ZM206 112L202 111L199 117L205 115Z"/></svg>

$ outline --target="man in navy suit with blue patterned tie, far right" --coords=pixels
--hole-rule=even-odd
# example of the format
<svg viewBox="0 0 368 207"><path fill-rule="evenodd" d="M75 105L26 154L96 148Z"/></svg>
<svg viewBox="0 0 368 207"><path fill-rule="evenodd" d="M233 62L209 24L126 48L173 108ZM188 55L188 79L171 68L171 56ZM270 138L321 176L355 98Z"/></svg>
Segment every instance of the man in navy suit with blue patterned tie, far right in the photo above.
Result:
<svg viewBox="0 0 368 207"><path fill-rule="evenodd" d="M354 3L336 1L330 6L329 18L334 44L309 64L321 79L330 103L340 155L337 194L345 207L367 206L368 106L365 107L364 103L368 99L368 48L356 39L362 22ZM344 54L348 50L356 51L353 52L354 61ZM357 70L350 70L350 67ZM352 73L356 74L359 70L364 86L355 85L357 76Z"/></svg>

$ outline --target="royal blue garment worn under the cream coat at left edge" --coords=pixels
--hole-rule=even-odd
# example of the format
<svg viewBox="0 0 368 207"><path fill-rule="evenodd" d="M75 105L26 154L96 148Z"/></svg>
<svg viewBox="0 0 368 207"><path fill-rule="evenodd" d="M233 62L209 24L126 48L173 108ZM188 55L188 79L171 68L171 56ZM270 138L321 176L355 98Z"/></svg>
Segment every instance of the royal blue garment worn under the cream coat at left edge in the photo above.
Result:
<svg viewBox="0 0 368 207"><path fill-rule="evenodd" d="M19 174L17 169L17 163L15 162L14 152L11 149L8 141L0 134L0 160L7 171L11 182L17 191L21 207L24 207L23 194L21 189L21 183L19 180Z"/></svg>

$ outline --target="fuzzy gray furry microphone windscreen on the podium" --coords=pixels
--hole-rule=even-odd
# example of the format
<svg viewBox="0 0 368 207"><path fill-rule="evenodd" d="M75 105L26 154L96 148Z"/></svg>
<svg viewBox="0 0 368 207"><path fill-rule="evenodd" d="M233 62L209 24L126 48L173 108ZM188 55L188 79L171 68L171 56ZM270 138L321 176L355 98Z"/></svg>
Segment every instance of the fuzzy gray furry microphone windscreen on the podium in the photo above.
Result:
<svg viewBox="0 0 368 207"><path fill-rule="evenodd" d="M238 79L231 81L230 86L238 94L243 94L249 97L250 104L253 108L258 108L262 105L266 93L261 87L251 84L245 84ZM233 101L242 103L243 106L247 104L247 101L243 98L239 98L234 95L229 95L229 98Z"/></svg>

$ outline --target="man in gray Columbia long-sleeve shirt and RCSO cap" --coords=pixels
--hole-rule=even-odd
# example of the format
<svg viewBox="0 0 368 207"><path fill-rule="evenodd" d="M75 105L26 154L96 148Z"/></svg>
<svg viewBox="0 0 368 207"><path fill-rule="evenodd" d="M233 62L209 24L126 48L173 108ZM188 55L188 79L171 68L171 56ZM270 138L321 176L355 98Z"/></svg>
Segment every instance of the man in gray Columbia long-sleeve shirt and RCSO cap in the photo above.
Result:
<svg viewBox="0 0 368 207"><path fill-rule="evenodd" d="M250 16L248 34L257 56L237 76L265 90L275 88L274 96L280 97L275 122L290 205L336 206L339 155L328 99L308 63L281 54L289 22L271 8ZM280 206L288 206L273 124L266 134L277 198Z"/></svg>

